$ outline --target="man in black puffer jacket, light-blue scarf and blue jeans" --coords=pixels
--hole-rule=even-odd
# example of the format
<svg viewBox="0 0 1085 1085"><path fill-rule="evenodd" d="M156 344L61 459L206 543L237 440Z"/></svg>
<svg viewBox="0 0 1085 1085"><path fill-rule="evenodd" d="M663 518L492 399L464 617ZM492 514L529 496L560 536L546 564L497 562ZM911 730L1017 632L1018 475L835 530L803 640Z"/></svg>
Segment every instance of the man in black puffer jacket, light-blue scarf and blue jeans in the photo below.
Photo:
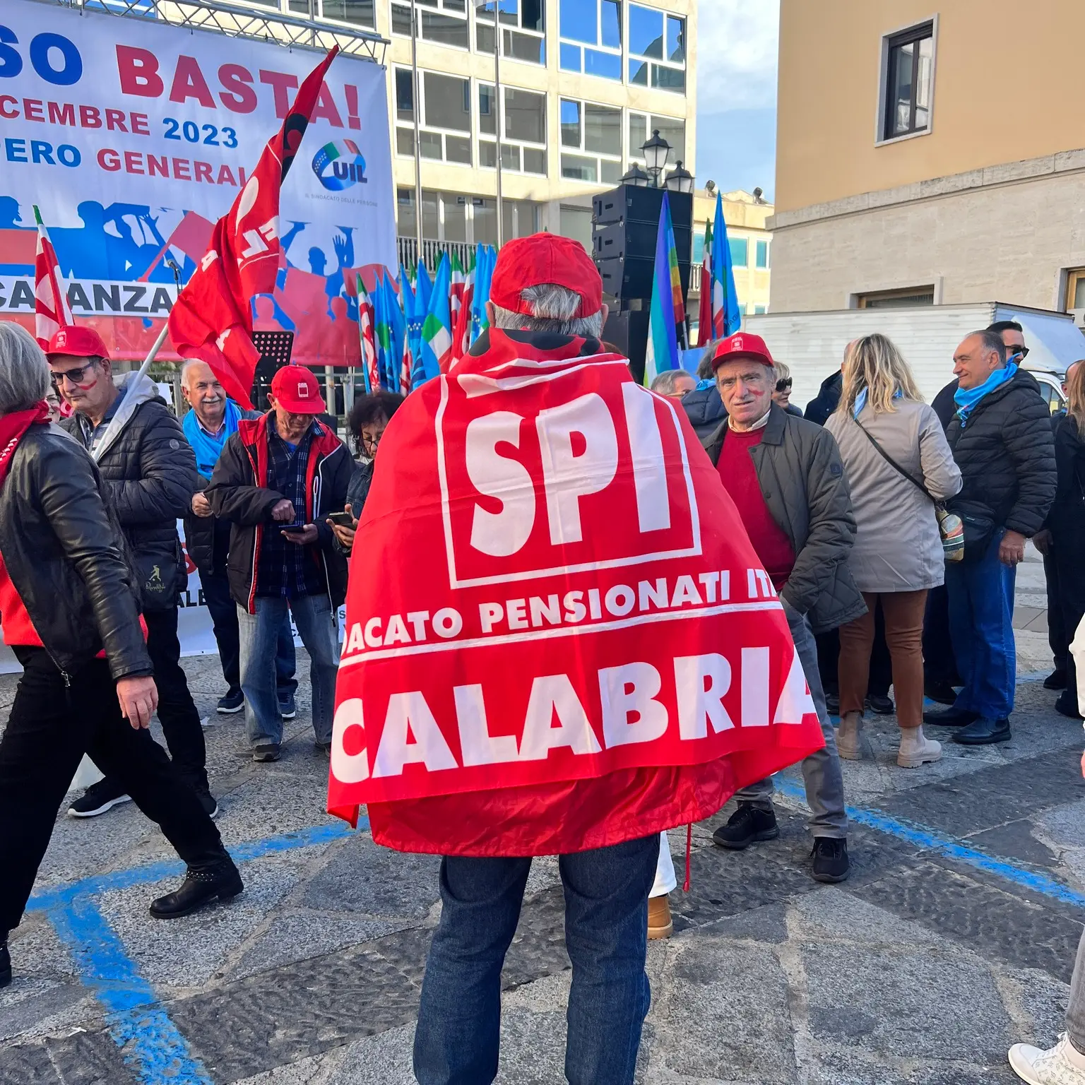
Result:
<svg viewBox="0 0 1085 1085"><path fill-rule="evenodd" d="M1010 738L1017 653L1016 566L1055 499L1055 448L1036 381L1007 363L1001 336L973 332L954 355L956 413L946 430L963 485L949 510L965 521L965 560L946 563L949 631L965 682L954 705L926 713L962 729L965 745Z"/></svg>

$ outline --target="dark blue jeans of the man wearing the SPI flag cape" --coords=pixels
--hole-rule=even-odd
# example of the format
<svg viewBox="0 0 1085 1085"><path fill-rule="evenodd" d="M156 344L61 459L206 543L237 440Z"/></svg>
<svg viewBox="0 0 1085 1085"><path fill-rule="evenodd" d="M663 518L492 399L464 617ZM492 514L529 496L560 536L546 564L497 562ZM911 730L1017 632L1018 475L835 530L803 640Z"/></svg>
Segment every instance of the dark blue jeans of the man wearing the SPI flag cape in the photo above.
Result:
<svg viewBox="0 0 1085 1085"><path fill-rule="evenodd" d="M660 835L558 859L573 963L565 1077L630 1085L650 1003L648 891ZM501 965L520 919L529 858L441 863L441 922L430 946L414 1033L421 1085L486 1085L497 1076Z"/></svg>

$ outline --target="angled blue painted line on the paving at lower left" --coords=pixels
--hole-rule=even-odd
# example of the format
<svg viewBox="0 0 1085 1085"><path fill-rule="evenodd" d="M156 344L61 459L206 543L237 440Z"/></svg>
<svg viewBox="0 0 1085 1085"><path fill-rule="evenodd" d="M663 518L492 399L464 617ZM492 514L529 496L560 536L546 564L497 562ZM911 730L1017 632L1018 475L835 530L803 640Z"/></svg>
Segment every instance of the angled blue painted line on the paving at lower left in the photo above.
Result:
<svg viewBox="0 0 1085 1085"><path fill-rule="evenodd" d="M368 828L368 819L359 818L358 829ZM297 832L238 844L230 854L237 863L251 863L268 855L332 843L354 832L343 822L315 825ZM183 871L183 863L167 859L91 875L39 890L26 908L27 911L43 911L52 923L58 937L72 954L79 979L104 1008L110 1035L141 1085L214 1083L158 1003L154 988L140 975L94 897L112 890L153 884Z"/></svg>

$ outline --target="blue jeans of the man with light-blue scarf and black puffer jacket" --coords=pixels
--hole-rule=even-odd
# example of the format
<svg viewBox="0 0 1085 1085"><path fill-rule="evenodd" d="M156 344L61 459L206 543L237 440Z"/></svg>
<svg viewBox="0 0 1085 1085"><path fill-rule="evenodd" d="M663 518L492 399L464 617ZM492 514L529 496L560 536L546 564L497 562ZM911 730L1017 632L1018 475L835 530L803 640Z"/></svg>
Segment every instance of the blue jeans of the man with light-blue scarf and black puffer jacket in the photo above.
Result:
<svg viewBox="0 0 1085 1085"><path fill-rule="evenodd" d="M949 636L965 688L955 707L992 719L1013 711L1017 647L1013 584L1017 571L998 560L1003 532L995 532L979 561L946 562Z"/></svg>

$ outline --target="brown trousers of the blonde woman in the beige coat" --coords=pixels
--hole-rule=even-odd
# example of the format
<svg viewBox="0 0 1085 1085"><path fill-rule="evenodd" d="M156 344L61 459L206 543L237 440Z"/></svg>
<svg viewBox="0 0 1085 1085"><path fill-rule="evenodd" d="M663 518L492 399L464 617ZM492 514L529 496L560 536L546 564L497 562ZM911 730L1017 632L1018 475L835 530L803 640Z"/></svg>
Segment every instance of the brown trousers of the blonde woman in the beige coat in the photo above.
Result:
<svg viewBox="0 0 1085 1085"><path fill-rule="evenodd" d="M867 612L840 627L840 714L861 712L870 680L870 649L875 642L875 609L881 599L885 642L893 661L896 718L902 727L923 722L923 611L922 591L864 591Z"/></svg>

